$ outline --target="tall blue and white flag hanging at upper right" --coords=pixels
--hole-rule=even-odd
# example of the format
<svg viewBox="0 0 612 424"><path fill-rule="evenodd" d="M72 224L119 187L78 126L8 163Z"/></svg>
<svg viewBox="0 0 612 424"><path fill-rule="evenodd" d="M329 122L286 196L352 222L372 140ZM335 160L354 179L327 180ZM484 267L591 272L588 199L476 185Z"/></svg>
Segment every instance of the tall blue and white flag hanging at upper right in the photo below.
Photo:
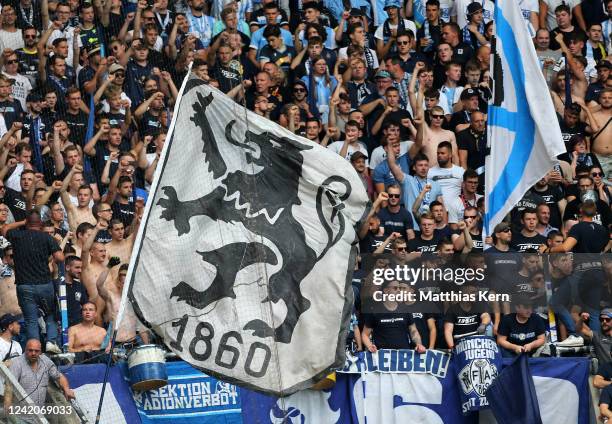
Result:
<svg viewBox="0 0 612 424"><path fill-rule="evenodd" d="M485 174L485 235L565 152L533 42L515 0L495 3Z"/></svg>

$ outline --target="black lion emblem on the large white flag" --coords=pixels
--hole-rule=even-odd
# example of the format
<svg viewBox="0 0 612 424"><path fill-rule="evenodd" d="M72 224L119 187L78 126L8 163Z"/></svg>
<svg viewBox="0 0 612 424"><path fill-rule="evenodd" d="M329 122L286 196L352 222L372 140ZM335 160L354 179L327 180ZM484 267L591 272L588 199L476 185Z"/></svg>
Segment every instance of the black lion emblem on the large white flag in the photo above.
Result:
<svg viewBox="0 0 612 424"><path fill-rule="evenodd" d="M193 83L191 87L196 84ZM257 337L274 337L277 342L289 343L300 315L310 307L310 301L300 291L300 282L344 233L344 217L338 211L344 206L342 202L350 196L350 183L342 177L332 176L318 188L317 218L327 235L327 244L317 255L306 243L302 225L292 215L292 207L301 204L298 196L303 165L301 152L313 147L270 132L256 134L250 130L246 131L241 142L234 138L232 128L236 121L231 120L225 127L225 138L232 148L239 150L237 154L246 155L249 167L228 172L206 116L206 109L211 107L215 97L213 93L207 96L197 93L196 96L197 102L193 105L195 114L191 120L202 131L203 153L209 171L215 179L222 179L213 191L194 200L181 201L174 187L162 187L165 198L157 203L163 208L161 217L174 222L179 236L189 233L189 221L198 215L206 215L220 222L240 222L254 234L271 241L281 258L262 242L229 243L212 251L198 251L202 260L216 268L215 278L203 291L181 281L174 286L170 297L203 309L220 299L236 298L236 275L245 267L255 263L280 263L280 269L268 276L268 296L263 302L283 300L287 307L286 318L276 328L255 319L249 321L244 330L253 331ZM246 172L250 168L259 171ZM343 187L342 192L334 191L332 185ZM324 200L333 207L329 222L324 216ZM336 231L330 223L335 223Z"/></svg>

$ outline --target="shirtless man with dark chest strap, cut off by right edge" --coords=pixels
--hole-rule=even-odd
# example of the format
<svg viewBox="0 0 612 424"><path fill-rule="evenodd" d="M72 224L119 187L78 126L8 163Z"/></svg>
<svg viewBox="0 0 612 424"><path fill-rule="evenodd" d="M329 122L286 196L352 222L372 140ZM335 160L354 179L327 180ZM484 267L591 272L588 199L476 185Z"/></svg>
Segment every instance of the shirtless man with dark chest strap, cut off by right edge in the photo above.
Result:
<svg viewBox="0 0 612 424"><path fill-rule="evenodd" d="M600 109L593 112L594 125L587 127L591 132L591 151L599 159L606 178L612 177L612 89L605 88L599 93Z"/></svg>

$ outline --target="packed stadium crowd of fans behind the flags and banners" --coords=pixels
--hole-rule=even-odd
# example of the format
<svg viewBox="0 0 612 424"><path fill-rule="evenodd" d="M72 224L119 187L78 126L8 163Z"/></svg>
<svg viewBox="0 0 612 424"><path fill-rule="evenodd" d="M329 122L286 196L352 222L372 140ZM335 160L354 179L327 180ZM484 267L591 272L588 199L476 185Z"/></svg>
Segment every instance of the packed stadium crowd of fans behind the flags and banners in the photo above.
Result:
<svg viewBox="0 0 612 424"><path fill-rule="evenodd" d="M108 344L191 65L361 176L373 207L359 228L356 349L452 348L480 333L506 355L533 353L545 345L539 316L550 305L566 346L592 341L610 362L612 260L600 254L612 246L612 0L517 3L567 152L485 241L491 0L3 3L0 360L31 339L43 341L38 354L61 352L61 276L68 349L87 360ZM469 302L368 309L373 268L442 268L453 253L464 254L461 266L486 265L487 288L518 300L478 311ZM402 284L382 290L432 289ZM117 340L149 337L134 322Z"/></svg>

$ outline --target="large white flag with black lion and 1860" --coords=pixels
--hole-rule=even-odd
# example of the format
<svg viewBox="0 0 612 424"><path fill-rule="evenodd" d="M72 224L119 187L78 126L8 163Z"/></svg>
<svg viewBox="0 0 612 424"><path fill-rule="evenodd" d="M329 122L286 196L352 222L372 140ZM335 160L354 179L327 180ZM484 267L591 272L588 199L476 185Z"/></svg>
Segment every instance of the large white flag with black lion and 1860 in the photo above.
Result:
<svg viewBox="0 0 612 424"><path fill-rule="evenodd" d="M134 311L208 374L308 387L344 361L363 183L198 78L179 102L132 255Z"/></svg>

